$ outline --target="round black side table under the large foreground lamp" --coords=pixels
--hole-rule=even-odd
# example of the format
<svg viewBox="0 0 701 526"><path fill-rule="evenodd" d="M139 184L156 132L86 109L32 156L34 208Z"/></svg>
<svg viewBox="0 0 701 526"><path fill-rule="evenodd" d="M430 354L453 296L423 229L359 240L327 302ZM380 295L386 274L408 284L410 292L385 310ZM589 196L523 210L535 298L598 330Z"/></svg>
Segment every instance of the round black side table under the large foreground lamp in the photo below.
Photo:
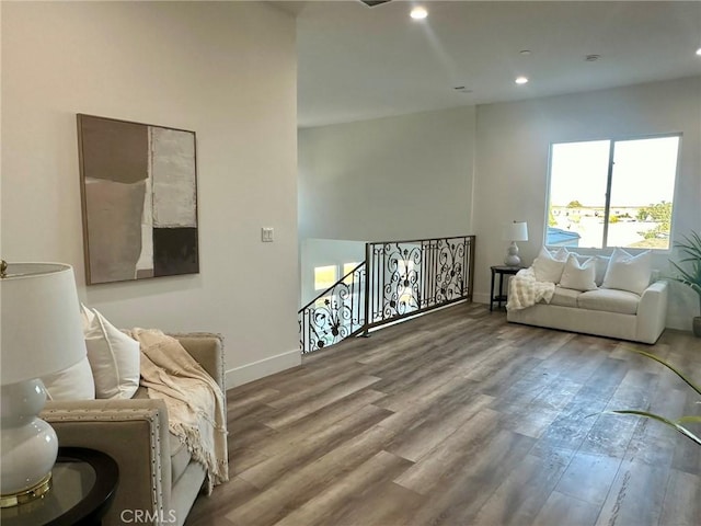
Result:
<svg viewBox="0 0 701 526"><path fill-rule="evenodd" d="M94 449L59 447L51 489L42 498L3 507L2 526L99 525L119 480L112 457Z"/></svg>

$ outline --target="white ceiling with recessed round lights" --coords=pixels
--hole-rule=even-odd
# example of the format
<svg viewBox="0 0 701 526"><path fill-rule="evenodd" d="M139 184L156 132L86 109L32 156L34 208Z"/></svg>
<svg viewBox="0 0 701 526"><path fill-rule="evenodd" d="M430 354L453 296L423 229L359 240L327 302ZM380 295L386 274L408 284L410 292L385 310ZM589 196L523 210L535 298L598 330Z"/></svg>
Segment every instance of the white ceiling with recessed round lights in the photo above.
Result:
<svg viewBox="0 0 701 526"><path fill-rule="evenodd" d="M300 127L701 75L701 1L276 3L297 15Z"/></svg>

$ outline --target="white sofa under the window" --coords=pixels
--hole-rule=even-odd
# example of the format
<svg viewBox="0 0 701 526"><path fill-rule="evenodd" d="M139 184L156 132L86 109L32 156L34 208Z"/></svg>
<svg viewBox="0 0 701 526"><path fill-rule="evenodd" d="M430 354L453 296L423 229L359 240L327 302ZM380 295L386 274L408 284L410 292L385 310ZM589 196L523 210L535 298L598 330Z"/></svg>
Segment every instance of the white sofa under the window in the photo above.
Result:
<svg viewBox="0 0 701 526"><path fill-rule="evenodd" d="M599 261L608 264L609 259L599 258ZM606 264L599 273L608 277ZM629 275L632 272L629 271ZM648 275L652 274L648 272ZM595 289L575 290L558 284L549 304L538 302L525 309L509 309L507 320L513 323L655 343L665 330L667 282L650 283L648 278L648 285L641 294L605 288L601 285L606 285L604 279Z"/></svg>

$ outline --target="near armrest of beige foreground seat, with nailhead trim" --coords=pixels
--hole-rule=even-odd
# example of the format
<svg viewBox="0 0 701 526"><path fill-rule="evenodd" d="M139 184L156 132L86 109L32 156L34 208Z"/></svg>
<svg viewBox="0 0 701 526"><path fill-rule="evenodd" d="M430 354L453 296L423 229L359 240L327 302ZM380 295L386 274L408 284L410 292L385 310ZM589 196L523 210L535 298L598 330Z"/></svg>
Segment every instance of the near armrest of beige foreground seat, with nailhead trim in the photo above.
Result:
<svg viewBox="0 0 701 526"><path fill-rule="evenodd" d="M123 525L123 512L168 516L171 462L168 411L162 400L48 401L41 418L59 446L106 453L119 467L119 484L103 525Z"/></svg>

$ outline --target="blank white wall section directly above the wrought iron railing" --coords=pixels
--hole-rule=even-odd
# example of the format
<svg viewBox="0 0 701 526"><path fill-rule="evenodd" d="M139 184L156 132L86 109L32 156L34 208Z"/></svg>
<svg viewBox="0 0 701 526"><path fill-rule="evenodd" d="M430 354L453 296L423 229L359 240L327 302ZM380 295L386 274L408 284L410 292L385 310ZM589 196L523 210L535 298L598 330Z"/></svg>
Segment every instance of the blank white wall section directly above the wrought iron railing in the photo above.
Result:
<svg viewBox="0 0 701 526"><path fill-rule="evenodd" d="M300 129L299 237L471 233L474 106Z"/></svg>

